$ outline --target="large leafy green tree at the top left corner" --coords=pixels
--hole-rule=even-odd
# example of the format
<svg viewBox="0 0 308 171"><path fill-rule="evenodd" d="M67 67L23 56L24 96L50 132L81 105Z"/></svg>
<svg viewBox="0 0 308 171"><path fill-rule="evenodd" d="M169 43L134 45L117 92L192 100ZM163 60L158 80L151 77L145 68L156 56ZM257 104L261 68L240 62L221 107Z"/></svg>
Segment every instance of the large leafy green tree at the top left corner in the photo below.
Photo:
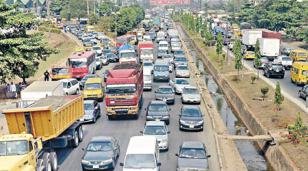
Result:
<svg viewBox="0 0 308 171"><path fill-rule="evenodd" d="M0 1L0 28L13 29L8 34L0 31L0 83L17 77L25 81L38 71L40 60L46 60L57 50L44 42L44 34L26 34L26 27L41 25L34 13L16 11L18 4L7 5Z"/></svg>

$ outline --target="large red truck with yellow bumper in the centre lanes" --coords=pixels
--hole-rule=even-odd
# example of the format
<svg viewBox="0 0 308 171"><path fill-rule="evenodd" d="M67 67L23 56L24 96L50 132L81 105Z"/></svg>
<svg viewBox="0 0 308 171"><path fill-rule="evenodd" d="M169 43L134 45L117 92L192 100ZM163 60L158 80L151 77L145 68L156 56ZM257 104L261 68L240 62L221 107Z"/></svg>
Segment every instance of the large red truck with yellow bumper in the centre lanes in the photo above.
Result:
<svg viewBox="0 0 308 171"><path fill-rule="evenodd" d="M136 63L125 63L108 70L105 82L106 114L133 115L138 118L142 107L143 68Z"/></svg>

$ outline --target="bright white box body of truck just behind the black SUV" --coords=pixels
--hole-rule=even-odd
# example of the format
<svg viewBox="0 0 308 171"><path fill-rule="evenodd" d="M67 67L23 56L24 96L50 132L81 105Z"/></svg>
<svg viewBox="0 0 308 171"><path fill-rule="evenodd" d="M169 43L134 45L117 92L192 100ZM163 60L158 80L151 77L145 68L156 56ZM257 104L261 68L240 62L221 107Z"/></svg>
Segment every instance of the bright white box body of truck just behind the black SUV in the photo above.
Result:
<svg viewBox="0 0 308 171"><path fill-rule="evenodd" d="M274 58L279 55L280 40L278 38L259 38L262 57Z"/></svg>

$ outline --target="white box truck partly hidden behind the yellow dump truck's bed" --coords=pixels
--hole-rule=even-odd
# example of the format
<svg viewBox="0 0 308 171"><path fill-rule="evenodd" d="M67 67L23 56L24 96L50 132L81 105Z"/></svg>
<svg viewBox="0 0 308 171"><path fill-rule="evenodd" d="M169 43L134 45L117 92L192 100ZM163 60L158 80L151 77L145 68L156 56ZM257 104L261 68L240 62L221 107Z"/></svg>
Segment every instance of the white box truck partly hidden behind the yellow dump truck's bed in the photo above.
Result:
<svg viewBox="0 0 308 171"><path fill-rule="evenodd" d="M23 108L46 96L64 96L62 81L34 81L21 91L21 100L16 107Z"/></svg>

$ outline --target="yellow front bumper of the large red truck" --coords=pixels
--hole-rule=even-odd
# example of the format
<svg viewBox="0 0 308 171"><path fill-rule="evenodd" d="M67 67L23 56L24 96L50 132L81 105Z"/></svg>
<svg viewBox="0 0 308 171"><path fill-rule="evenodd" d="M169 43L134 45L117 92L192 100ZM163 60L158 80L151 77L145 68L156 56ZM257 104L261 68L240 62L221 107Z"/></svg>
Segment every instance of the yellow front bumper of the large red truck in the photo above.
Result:
<svg viewBox="0 0 308 171"><path fill-rule="evenodd" d="M112 115L138 115L139 106L110 106L106 107L107 116Z"/></svg>

